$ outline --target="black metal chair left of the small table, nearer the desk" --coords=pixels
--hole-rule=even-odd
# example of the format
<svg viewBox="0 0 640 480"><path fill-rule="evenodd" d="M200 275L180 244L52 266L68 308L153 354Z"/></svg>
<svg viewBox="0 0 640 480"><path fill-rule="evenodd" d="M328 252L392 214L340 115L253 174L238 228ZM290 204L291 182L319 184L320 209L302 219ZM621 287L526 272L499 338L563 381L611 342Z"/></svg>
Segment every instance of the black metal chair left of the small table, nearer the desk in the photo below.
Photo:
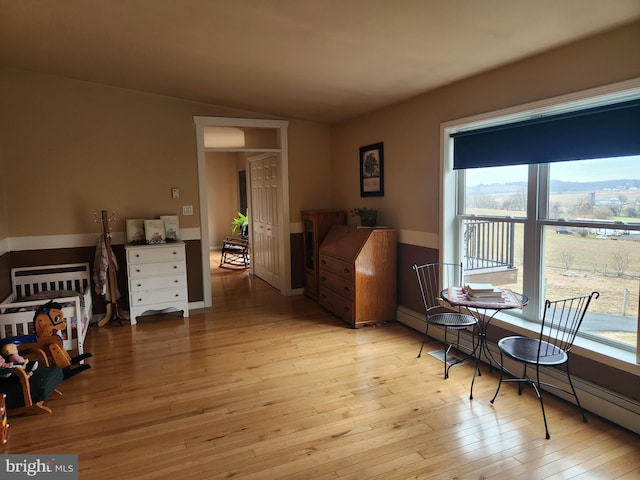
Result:
<svg viewBox="0 0 640 480"><path fill-rule="evenodd" d="M440 285L442 285L442 288L462 285L462 263L414 264L411 268L416 272L418 287L420 288L420 296L422 297L422 303L427 316L427 325L424 332L424 338L422 339L422 345L420 346L420 352L418 352L418 357L422 355L422 349L424 348L424 344L429 333L429 325L438 325L443 327L444 344L446 346L444 354L444 378L446 379L449 378L449 369L463 361L463 359L459 359L448 364L447 355L449 354L449 351L453 347L455 347L456 350L460 350L460 332L469 327L475 327L478 323L476 318L470 313L462 313L460 307L457 312L446 311L440 303L442 300L440 298ZM442 280L442 282L440 280ZM447 341L447 332L449 330L455 330L457 333L456 341L453 343L449 343ZM474 351L475 348L467 355L467 358L471 356Z"/></svg>

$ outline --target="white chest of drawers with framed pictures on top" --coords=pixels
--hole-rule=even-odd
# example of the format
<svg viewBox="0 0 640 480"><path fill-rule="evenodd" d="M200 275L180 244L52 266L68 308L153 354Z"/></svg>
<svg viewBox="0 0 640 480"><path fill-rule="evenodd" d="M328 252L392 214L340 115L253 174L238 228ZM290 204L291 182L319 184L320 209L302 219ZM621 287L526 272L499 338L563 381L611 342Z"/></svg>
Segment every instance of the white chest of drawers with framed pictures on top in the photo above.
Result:
<svg viewBox="0 0 640 480"><path fill-rule="evenodd" d="M125 245L131 324L145 312L182 310L189 316L184 242Z"/></svg>

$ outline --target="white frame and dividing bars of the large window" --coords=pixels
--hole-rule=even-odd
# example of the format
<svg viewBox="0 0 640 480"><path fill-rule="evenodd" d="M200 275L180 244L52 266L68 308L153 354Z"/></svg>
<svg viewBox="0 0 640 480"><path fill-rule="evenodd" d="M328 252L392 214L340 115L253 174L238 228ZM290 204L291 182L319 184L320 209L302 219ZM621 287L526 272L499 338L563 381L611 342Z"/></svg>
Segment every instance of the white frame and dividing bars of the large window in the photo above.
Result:
<svg viewBox="0 0 640 480"><path fill-rule="evenodd" d="M463 260L463 246L461 239L462 225L464 219L499 219L505 221L505 217L465 215L464 212L464 175L453 170L453 139L451 134L463 131L478 129L493 125L501 125L517 121L534 118L537 115L552 114L557 112L570 111L572 109L584 108L585 106L597 106L606 103L619 102L628 99L640 98L640 79L633 79L618 84L599 87L574 94L554 97L539 102L511 107L508 109L488 112L473 117L466 117L441 124L441 245L440 255L442 261L460 262ZM567 225L566 222L557 219L549 219L548 212L548 178L549 164L532 164L528 170L527 189L527 216L526 218L506 218L514 223L524 225L524 241L530 242L532 239L537 243L538 248L535 255L525 255L524 270L527 276L523 278L524 290L530 296L530 302L522 314L514 312L501 312L498 321L517 328L525 328L535 331L542 311L543 299L541 298L541 271L542 254L544 246L542 244L543 230L546 226ZM461 178L462 177L462 178ZM543 199L542 203L538 198ZM543 212L543 215L539 214ZM580 223L572 221L571 224ZM597 223L597 222L594 222ZM589 222L591 225L591 222ZM631 228L633 230L640 229ZM525 251L530 251L526 249ZM637 319L640 327L640 315ZM638 329L640 337L640 328ZM628 362L640 363L640 338L636 344L635 352L625 351L619 347L607 344L606 341L587 339L585 342L576 342L577 346L582 345L587 351L595 351L598 354L612 356ZM602 348L601 348L602 346ZM625 352L624 354L622 352Z"/></svg>

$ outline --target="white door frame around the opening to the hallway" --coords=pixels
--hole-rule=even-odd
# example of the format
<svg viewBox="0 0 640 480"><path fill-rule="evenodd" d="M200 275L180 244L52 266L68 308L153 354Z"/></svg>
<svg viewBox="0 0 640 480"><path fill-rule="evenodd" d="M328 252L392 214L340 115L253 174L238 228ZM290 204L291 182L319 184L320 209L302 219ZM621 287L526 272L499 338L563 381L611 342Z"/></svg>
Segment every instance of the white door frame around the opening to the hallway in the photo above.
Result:
<svg viewBox="0 0 640 480"><path fill-rule="evenodd" d="M288 120L265 120L255 118L233 118L233 117L208 117L194 116L193 122L196 127L196 148L198 156L198 197L200 200L200 243L202 252L202 288L204 306L212 305L211 295L211 267L209 264L209 207L207 188L207 152L249 152L249 153L277 153L281 162L281 188L280 201L282 205L282 225L280 226L280 271L282 281L280 293L291 295L291 243L290 243L290 213L289 213L289 156L288 156ZM275 129L278 133L280 148L277 149L251 149L251 148L205 148L204 130L205 127L237 127L237 128L269 128ZM249 176L250 177L250 176ZM248 179L250 182L251 180ZM251 191L251 185L248 185Z"/></svg>

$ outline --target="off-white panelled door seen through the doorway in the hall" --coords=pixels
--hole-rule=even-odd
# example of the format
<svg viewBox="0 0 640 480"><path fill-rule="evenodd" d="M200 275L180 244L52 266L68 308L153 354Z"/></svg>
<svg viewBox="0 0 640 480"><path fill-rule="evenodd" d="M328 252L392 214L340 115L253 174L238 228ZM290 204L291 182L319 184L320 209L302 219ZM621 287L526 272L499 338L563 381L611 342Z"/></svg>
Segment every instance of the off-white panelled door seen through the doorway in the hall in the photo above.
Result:
<svg viewBox="0 0 640 480"><path fill-rule="evenodd" d="M281 290L280 159L278 155L249 159L251 172L251 262L254 274Z"/></svg>

